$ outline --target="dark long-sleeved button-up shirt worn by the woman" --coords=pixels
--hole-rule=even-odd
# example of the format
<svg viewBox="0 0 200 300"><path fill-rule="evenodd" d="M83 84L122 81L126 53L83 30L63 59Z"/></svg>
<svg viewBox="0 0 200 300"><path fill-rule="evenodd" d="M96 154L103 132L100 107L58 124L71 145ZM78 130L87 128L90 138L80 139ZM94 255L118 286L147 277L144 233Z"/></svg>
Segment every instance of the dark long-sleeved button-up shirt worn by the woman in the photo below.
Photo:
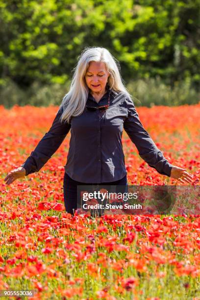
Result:
<svg viewBox="0 0 200 300"><path fill-rule="evenodd" d="M109 91L97 103L89 93L87 105L105 105L108 95ZM38 172L71 130L65 172L84 183L119 180L126 175L123 129L150 167L162 175L171 175L172 165L144 129L132 100L124 92L111 90L110 106L106 111L90 111L85 107L80 116L71 118L70 124L60 122L61 113L60 108L50 130L22 165L25 175Z"/></svg>

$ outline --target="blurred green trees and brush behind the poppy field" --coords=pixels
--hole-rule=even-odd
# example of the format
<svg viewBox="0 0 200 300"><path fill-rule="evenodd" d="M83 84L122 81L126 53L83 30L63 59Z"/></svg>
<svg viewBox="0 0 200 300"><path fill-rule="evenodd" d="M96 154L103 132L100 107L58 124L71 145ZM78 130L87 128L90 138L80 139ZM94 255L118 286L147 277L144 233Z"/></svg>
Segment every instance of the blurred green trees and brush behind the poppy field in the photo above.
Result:
<svg viewBox="0 0 200 300"><path fill-rule="evenodd" d="M198 102L199 21L200 0L0 0L0 104L59 104L90 46L142 105Z"/></svg>

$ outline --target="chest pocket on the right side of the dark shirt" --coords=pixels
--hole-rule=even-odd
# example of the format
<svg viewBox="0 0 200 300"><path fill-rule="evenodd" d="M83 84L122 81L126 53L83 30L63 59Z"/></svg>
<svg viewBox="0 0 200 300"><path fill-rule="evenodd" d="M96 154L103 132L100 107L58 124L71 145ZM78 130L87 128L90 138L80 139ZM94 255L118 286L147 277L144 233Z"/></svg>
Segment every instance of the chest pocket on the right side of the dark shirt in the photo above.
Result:
<svg viewBox="0 0 200 300"><path fill-rule="evenodd" d="M122 125L128 113L124 107L109 106L105 112L105 123L106 125Z"/></svg>

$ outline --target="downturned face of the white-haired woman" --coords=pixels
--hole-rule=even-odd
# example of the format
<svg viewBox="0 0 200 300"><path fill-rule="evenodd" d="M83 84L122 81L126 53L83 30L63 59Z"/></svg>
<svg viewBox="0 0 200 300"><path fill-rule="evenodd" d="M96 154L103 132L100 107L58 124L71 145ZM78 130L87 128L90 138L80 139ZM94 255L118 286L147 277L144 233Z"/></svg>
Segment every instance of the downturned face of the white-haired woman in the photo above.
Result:
<svg viewBox="0 0 200 300"><path fill-rule="evenodd" d="M91 61L85 74L86 84L93 93L104 93L108 76L103 62Z"/></svg>

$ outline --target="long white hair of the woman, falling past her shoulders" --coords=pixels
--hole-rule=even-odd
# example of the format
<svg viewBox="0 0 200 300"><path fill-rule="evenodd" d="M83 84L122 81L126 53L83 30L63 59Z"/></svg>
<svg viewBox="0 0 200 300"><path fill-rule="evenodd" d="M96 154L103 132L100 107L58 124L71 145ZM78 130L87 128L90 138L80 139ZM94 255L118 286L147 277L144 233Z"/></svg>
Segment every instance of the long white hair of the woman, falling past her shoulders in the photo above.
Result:
<svg viewBox="0 0 200 300"><path fill-rule="evenodd" d="M110 89L117 92L125 92L125 94L129 95L120 75L118 61L105 48L87 47L78 57L70 91L64 96L60 105L59 109L62 109L61 122L70 123L71 117L81 115L85 108L89 93L89 88L85 81L85 74L91 61L105 63L106 70L110 74L107 82Z"/></svg>

